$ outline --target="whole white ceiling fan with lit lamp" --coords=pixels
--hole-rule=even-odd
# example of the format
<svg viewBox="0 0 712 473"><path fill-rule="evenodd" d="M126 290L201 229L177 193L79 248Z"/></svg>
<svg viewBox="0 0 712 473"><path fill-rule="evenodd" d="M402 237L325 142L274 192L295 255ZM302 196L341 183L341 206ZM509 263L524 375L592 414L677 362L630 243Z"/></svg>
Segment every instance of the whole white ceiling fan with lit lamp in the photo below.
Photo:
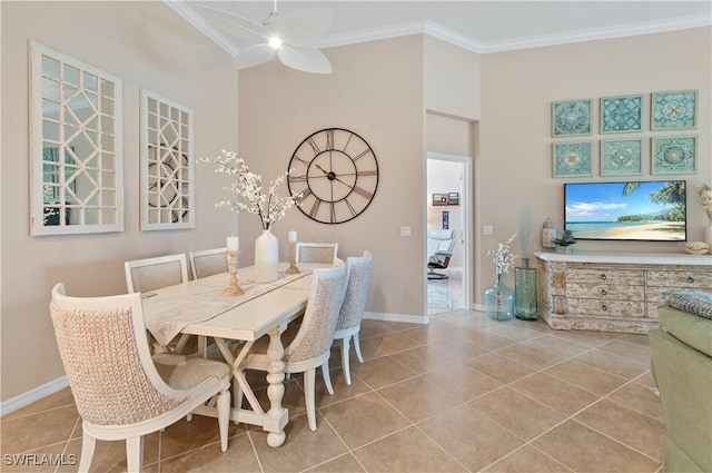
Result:
<svg viewBox="0 0 712 473"><path fill-rule="evenodd" d="M326 33L333 12L327 8L306 8L286 13L273 12L264 23L249 20L229 11L195 4L206 20L228 39L261 40L240 50L237 69L246 69L267 62L275 57L293 69L313 73L330 73L329 60L314 45Z"/></svg>

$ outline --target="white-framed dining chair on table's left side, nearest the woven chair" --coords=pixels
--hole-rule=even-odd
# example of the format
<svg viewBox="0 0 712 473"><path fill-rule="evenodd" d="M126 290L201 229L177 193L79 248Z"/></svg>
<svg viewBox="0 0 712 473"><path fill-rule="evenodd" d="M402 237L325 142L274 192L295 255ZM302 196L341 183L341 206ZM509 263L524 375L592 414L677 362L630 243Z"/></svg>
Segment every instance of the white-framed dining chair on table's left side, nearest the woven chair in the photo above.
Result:
<svg viewBox="0 0 712 473"><path fill-rule="evenodd" d="M161 287L174 286L188 282L188 263L182 253L176 255L157 256L152 258L131 259L123 264L126 273L126 286L129 293L150 293ZM156 351L171 349L182 352L190 339L182 334L168 347L160 347L155 341L151 343ZM198 337L198 352L204 355L207 352L207 339Z"/></svg>

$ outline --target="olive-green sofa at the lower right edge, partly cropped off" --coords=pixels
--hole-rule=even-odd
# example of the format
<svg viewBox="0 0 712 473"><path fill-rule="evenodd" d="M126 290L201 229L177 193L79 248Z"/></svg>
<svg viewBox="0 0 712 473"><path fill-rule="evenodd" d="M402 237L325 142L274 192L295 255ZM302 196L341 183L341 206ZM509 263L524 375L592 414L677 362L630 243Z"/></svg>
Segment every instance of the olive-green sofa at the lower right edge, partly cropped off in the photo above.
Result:
<svg viewBox="0 0 712 473"><path fill-rule="evenodd" d="M649 333L663 404L663 472L712 472L712 319L664 305Z"/></svg>

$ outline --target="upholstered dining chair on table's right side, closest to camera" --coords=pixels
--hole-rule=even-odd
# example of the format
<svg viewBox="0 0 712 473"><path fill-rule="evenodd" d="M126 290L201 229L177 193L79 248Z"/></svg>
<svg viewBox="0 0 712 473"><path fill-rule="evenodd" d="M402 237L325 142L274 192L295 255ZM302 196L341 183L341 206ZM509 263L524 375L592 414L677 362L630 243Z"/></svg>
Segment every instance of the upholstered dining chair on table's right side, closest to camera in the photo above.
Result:
<svg viewBox="0 0 712 473"><path fill-rule="evenodd" d="M314 269L309 299L301 324L290 326L283 334L286 345L283 361L285 374L304 373L304 398L307 408L309 428L316 431L315 383L316 368L322 367L324 381L329 394L334 387L329 378L329 356L334 342L334 332L338 313L346 295L348 280L345 266ZM251 348L241 365L246 369L267 371L269 358L268 337L260 338ZM236 402L241 403L241 393L236 388Z"/></svg>

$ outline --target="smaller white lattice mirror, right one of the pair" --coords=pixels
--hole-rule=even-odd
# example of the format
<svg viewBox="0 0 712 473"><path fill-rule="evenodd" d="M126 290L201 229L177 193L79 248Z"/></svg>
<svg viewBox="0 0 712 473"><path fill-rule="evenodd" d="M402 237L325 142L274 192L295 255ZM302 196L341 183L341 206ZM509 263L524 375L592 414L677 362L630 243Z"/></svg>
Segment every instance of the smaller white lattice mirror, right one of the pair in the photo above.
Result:
<svg viewBox="0 0 712 473"><path fill-rule="evenodd" d="M141 229L195 228L192 110L141 89Z"/></svg>

